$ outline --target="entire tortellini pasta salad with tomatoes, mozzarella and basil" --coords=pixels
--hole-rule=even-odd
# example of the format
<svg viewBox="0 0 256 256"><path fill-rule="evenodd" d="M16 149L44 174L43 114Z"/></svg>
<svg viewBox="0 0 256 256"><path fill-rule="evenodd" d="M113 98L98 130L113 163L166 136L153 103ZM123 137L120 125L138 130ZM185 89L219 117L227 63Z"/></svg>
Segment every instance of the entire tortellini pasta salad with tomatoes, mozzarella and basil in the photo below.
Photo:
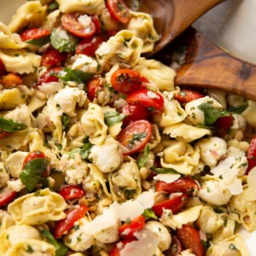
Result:
<svg viewBox="0 0 256 256"><path fill-rule="evenodd" d="M256 102L175 86L123 0L28 1L0 31L0 255L250 255Z"/></svg>

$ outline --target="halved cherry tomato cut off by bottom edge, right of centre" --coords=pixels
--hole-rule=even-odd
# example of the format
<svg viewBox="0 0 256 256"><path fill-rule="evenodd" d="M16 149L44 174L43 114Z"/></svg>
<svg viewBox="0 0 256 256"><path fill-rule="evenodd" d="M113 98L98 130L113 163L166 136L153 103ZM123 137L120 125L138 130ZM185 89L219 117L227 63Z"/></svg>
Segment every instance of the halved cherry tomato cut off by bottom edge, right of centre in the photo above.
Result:
<svg viewBox="0 0 256 256"><path fill-rule="evenodd" d="M181 241L185 249L191 249L196 256L204 255L204 247L201 244L201 238L198 230L189 225L183 225L177 230L177 238Z"/></svg>

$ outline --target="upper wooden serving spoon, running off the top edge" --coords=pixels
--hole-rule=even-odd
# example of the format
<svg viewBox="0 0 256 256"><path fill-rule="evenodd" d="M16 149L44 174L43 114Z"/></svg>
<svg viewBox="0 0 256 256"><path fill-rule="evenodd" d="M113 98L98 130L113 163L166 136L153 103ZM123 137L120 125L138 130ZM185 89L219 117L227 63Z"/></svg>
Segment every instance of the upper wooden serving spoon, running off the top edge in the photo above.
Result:
<svg viewBox="0 0 256 256"><path fill-rule="evenodd" d="M125 2L131 8L134 0ZM153 52L147 55L149 56L163 49L207 10L224 0L141 0L137 2L141 2L139 11L152 16L156 32L161 37L155 44Z"/></svg>

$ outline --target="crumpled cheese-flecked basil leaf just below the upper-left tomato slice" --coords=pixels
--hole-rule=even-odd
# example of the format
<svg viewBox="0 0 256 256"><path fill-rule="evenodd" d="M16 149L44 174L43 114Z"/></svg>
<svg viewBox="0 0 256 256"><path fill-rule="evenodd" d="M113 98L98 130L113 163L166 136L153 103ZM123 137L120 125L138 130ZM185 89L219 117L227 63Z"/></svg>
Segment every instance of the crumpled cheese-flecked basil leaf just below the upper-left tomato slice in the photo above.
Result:
<svg viewBox="0 0 256 256"><path fill-rule="evenodd" d="M55 28L50 35L50 43L60 52L73 52L79 39L74 37L70 32L67 32L61 27Z"/></svg>

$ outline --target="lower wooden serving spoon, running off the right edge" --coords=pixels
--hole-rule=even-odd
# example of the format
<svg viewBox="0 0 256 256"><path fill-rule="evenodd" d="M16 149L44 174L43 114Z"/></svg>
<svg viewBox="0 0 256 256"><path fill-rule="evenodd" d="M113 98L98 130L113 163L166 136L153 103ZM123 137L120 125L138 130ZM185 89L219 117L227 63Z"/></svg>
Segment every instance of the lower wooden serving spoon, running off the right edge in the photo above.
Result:
<svg viewBox="0 0 256 256"><path fill-rule="evenodd" d="M225 53L200 32L190 32L176 84L224 90L256 100L256 65Z"/></svg>

